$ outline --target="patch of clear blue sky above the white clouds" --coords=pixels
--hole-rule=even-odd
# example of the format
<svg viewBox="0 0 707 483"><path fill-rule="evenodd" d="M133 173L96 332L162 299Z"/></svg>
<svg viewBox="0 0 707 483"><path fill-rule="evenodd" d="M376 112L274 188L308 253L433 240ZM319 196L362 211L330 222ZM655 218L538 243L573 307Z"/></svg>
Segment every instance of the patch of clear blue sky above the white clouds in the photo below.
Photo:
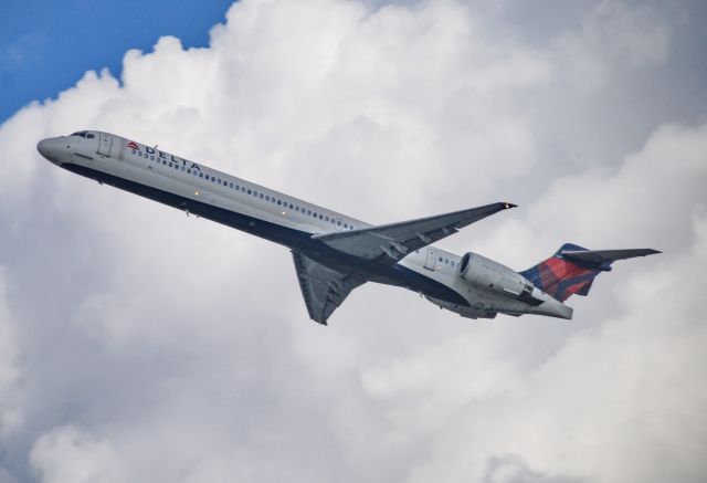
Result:
<svg viewBox="0 0 707 483"><path fill-rule="evenodd" d="M4 2L0 17L0 120L33 99L55 97L84 72L119 76L128 49L149 50L178 33L186 46L205 46L209 29L230 1Z"/></svg>

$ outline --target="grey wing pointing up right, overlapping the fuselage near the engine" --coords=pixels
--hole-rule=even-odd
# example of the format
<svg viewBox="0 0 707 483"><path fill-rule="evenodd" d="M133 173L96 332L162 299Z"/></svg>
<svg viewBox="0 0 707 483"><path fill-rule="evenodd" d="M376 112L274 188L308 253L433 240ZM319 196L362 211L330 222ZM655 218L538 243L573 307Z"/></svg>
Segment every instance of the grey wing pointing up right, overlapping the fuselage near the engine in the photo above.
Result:
<svg viewBox="0 0 707 483"><path fill-rule="evenodd" d="M420 218L400 223L381 224L337 233L313 235L329 246L366 260L387 260L395 263L410 251L419 250L490 214L514 208L510 203L493 203L436 217Z"/></svg>

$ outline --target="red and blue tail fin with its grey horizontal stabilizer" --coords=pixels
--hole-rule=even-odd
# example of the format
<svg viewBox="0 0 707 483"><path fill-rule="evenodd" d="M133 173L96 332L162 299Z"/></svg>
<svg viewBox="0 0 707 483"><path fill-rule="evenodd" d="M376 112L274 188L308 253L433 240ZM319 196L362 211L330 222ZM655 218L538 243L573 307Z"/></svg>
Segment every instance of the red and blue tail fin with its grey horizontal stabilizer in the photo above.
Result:
<svg viewBox="0 0 707 483"><path fill-rule="evenodd" d="M661 253L652 249L587 250L564 243L551 258L519 272L545 293L564 302L571 295L587 296L594 277L611 271L616 260Z"/></svg>

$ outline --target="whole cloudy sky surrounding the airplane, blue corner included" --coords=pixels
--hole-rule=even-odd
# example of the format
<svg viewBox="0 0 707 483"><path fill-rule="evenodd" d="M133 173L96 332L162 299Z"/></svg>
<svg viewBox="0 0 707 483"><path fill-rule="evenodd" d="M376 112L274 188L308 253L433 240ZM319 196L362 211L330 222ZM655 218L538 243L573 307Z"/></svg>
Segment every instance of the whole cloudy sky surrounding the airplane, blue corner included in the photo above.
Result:
<svg viewBox="0 0 707 483"><path fill-rule="evenodd" d="M1 20L0 483L705 481L703 2L178 6ZM440 244L515 270L664 253L571 322L366 284L323 327L287 250L36 153L88 128L371 223L517 202Z"/></svg>

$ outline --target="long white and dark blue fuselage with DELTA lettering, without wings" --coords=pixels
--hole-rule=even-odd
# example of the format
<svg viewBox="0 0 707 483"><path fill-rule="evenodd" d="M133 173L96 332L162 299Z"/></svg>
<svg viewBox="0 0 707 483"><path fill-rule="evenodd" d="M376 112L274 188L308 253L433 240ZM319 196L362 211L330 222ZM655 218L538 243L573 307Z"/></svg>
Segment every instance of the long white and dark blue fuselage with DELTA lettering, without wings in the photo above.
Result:
<svg viewBox="0 0 707 483"><path fill-rule="evenodd" d="M325 265L345 265L368 281L413 290L463 316L493 317L497 312L571 316L571 308L537 288L534 296L544 303L531 306L461 277L462 258L433 245L411 252L392 271L339 260L312 235L362 229L369 223L120 136L82 132L45 139L39 150L73 172L306 252ZM404 276L398 276L401 271Z"/></svg>

